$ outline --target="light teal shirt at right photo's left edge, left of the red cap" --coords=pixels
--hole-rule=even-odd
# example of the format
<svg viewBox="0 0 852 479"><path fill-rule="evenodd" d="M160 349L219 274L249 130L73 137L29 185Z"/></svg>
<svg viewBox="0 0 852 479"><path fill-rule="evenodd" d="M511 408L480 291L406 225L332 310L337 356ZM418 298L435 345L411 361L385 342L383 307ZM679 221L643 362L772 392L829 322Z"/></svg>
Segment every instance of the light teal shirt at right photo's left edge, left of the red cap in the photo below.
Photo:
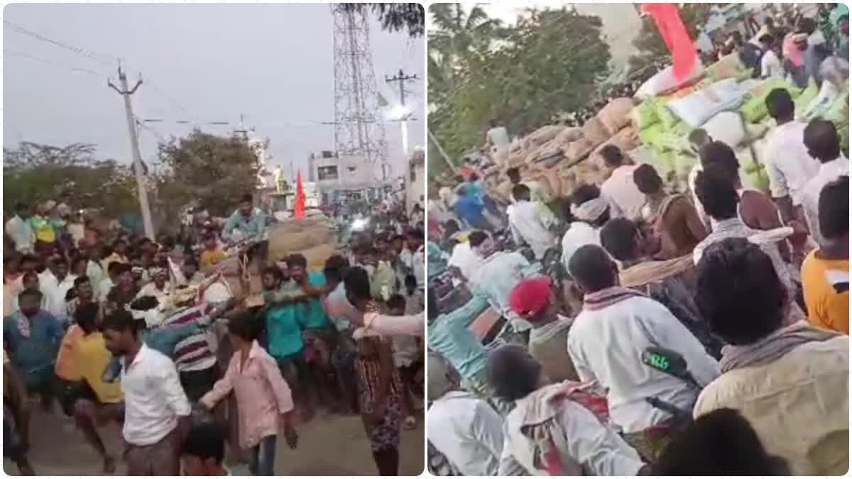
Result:
<svg viewBox="0 0 852 479"><path fill-rule="evenodd" d="M488 351L468 326L487 308L485 297L474 296L461 308L438 316L427 328L429 349L450 361L463 378L474 378L485 368Z"/></svg>

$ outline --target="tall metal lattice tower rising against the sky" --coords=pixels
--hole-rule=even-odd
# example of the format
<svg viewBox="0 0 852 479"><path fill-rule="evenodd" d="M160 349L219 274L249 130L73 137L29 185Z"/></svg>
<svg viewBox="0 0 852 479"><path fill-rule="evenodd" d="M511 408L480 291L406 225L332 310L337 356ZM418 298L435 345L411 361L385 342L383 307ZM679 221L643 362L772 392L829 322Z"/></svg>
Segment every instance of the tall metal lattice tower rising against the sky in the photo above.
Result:
<svg viewBox="0 0 852 479"><path fill-rule="evenodd" d="M379 111L366 14L332 3L334 17L334 147L360 156L388 182L388 147Z"/></svg>

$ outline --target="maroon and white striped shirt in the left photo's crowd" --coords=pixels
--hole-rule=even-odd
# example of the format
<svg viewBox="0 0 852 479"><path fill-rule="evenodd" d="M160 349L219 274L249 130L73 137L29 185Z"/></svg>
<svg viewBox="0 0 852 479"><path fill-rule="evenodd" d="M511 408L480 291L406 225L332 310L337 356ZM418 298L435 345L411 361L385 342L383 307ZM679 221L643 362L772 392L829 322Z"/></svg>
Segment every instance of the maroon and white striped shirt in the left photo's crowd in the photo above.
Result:
<svg viewBox="0 0 852 479"><path fill-rule="evenodd" d="M210 303L204 303L192 308L178 310L163 320L158 329L201 326L199 320L210 315L213 309L214 307ZM210 349L210 343L207 341L207 334L203 327L199 327L195 334L181 339L175 345L171 357L175 361L177 372L202 371L216 365L216 355Z"/></svg>

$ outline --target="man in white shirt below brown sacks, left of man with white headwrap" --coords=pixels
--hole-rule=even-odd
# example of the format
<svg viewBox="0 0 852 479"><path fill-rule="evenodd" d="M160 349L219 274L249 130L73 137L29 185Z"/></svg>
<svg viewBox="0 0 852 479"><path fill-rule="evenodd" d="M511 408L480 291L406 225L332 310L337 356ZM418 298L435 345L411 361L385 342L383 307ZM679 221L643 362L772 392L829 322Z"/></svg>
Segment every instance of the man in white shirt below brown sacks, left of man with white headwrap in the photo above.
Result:
<svg viewBox="0 0 852 479"><path fill-rule="evenodd" d="M544 257L544 252L556 245L556 236L551 233L559 223L556 216L540 203L530 200L530 188L517 184L512 188L515 205L509 208L509 228L515 244L526 243L533 249L536 259Z"/></svg>

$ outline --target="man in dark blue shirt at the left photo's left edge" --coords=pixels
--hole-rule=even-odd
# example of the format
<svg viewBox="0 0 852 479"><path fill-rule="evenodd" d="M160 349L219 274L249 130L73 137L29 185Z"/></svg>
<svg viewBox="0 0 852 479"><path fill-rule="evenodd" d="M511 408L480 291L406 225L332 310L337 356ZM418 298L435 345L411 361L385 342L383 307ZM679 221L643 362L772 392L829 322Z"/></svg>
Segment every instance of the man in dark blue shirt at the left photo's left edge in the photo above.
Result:
<svg viewBox="0 0 852 479"><path fill-rule="evenodd" d="M42 293L27 289L18 297L20 309L3 320L3 346L20 372L26 390L42 396L45 408L56 394L54 364L62 341L59 320L41 309Z"/></svg>

